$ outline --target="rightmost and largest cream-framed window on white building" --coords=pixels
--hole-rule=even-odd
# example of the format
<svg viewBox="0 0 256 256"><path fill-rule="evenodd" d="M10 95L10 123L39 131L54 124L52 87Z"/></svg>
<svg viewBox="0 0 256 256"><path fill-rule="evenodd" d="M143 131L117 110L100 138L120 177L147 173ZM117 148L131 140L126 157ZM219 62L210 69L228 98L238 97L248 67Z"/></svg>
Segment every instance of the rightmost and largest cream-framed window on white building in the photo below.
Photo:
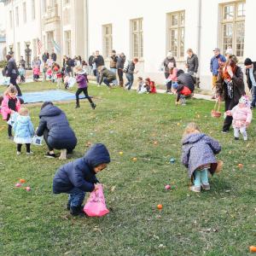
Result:
<svg viewBox="0 0 256 256"><path fill-rule="evenodd" d="M242 9L243 13L244 13L243 16L238 16L238 9L239 9L240 4L244 5L244 7ZM224 9L225 9L225 7L228 7L228 6L233 6L233 9L234 9L233 18L230 19L230 20L224 19L224 15L225 15ZM238 57L238 59L240 60L240 59L243 58L243 55L244 55L246 1L241 0L241 1L236 1L236 2L220 4L220 10L221 10L220 11L220 17L221 17L221 20L220 20L220 31L221 31L220 45L221 45L221 50L222 50L222 52L225 52L228 47L231 47L232 50L233 50L234 55L236 55ZM228 24L232 25L232 35L231 35L232 43L231 44L224 42L224 38L225 38L224 26L227 26ZM238 29L238 25L240 25L240 24L243 25L243 35L242 35L243 40L242 40L242 43L239 44L239 42L237 41L237 38L241 38L241 37L240 36L238 37L237 29ZM242 47L240 47L240 49L238 49L237 45L240 45L240 46L242 45ZM240 52L242 54L237 55L238 52Z"/></svg>

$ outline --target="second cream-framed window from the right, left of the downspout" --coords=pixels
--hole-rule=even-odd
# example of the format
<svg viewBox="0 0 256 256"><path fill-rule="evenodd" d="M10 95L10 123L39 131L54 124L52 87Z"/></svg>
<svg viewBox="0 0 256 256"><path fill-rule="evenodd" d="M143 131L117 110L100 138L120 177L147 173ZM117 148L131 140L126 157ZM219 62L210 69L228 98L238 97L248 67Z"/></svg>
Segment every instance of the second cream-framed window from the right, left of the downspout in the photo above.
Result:
<svg viewBox="0 0 256 256"><path fill-rule="evenodd" d="M172 16L177 15L177 24L172 25ZM183 19L182 19L183 17ZM182 22L183 20L183 22ZM186 23L186 11L178 10L172 13L166 14L166 52L172 51L173 57L177 60L183 60L185 56L185 23ZM172 32L177 33L177 50L173 50ZM183 40L182 40L183 39ZM183 45L182 45L183 42Z"/></svg>

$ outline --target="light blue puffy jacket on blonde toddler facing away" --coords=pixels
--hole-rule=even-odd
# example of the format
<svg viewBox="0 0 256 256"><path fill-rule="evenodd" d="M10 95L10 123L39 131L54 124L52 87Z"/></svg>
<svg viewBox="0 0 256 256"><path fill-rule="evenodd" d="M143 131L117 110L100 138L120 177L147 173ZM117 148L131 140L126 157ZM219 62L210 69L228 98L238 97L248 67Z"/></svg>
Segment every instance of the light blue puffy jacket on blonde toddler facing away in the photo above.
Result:
<svg viewBox="0 0 256 256"><path fill-rule="evenodd" d="M30 138L34 134L34 127L29 116L19 115L13 128L15 137Z"/></svg>

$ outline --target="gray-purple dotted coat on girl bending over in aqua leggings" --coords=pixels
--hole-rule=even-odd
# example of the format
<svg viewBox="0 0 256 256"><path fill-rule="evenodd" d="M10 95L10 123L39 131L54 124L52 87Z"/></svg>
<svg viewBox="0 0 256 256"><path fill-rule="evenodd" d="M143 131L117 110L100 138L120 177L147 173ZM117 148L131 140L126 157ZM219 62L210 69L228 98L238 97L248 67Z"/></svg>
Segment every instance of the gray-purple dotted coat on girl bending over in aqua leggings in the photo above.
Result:
<svg viewBox="0 0 256 256"><path fill-rule="evenodd" d="M207 164L211 164L209 171L215 172L217 160L214 154L221 150L218 141L204 133L191 133L183 138L182 144L182 163L188 168L190 178L198 167Z"/></svg>

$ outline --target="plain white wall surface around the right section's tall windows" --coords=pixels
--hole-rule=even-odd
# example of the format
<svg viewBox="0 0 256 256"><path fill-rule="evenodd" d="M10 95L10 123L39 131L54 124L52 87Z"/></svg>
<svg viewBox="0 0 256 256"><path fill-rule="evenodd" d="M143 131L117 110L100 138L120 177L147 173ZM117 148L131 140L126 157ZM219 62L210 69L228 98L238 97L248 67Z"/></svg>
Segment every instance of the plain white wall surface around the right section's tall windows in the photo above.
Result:
<svg viewBox="0 0 256 256"><path fill-rule="evenodd" d="M100 49L102 52L102 25L112 24L113 49L116 49L118 53L123 51L131 58L130 22L132 19L143 18L144 56L137 67L140 70L138 75L150 76L156 82L163 84L165 79L159 69L167 50L166 15L184 10L184 49L192 48L195 54L199 55L200 72L198 74L201 77L201 88L211 89L212 75L209 66L213 55L212 49L222 46L220 4L232 2L236 0L131 0L129 4L124 5L124 1L112 0L110 5L107 1L89 0L89 51ZM253 45L255 45L256 38L253 38L251 33L253 31L253 9L255 8L256 1L247 0L244 55L252 53ZM201 17L201 25L199 17ZM201 39L198 40L200 35ZM177 60L177 67L184 68L185 58L186 55Z"/></svg>

